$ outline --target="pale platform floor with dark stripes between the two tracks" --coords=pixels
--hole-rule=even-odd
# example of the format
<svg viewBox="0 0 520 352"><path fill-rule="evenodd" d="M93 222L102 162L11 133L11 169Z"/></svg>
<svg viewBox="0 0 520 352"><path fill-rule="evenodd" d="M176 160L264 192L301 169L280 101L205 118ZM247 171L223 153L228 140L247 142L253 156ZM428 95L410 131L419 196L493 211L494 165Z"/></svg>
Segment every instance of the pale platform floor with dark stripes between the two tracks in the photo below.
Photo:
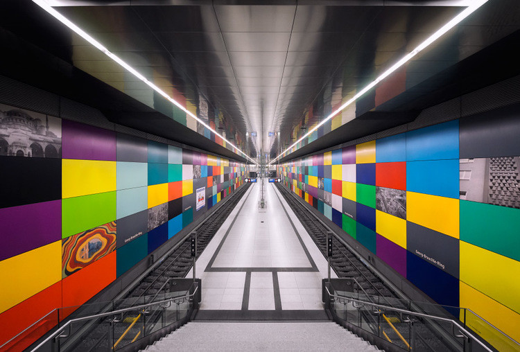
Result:
<svg viewBox="0 0 520 352"><path fill-rule="evenodd" d="M276 186L266 180L264 192L260 209L261 183L252 184L198 258L196 319L326 319L327 261Z"/></svg>

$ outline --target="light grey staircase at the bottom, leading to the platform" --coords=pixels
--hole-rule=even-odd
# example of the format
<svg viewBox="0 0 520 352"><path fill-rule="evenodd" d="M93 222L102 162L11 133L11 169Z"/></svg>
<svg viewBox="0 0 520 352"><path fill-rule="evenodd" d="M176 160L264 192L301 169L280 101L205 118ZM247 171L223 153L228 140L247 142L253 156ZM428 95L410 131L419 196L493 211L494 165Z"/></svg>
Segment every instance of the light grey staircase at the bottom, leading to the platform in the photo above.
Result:
<svg viewBox="0 0 520 352"><path fill-rule="evenodd" d="M190 322L144 351L379 351L333 322Z"/></svg>

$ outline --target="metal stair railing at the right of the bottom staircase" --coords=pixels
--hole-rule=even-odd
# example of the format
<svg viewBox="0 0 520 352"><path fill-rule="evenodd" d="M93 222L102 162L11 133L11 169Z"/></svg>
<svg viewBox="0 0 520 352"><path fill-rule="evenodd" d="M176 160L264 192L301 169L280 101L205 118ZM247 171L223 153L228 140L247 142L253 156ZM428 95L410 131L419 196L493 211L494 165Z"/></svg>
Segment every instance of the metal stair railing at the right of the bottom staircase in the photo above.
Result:
<svg viewBox="0 0 520 352"><path fill-rule="evenodd" d="M392 306L386 306L381 303L375 303L374 300L372 300L372 299L370 301L365 301L362 299L356 299L354 297L342 296L339 294L331 293L328 285L325 285L325 290L327 291L327 294L329 296L328 303L336 303L336 301L338 301L338 303L343 304L343 307L344 307L343 318L337 314L336 308L334 307L333 304L328 305L328 306L330 306L331 311L337 318L342 319L343 321L345 321L349 324L354 324L355 326L358 326L358 328L362 328L363 330L365 330L363 328L363 322L361 322L361 320L356 321L356 319L348 318L347 303L352 303L352 307L356 310L360 310L360 309L364 308L365 306L370 306L373 308L372 310L370 310L370 312L372 314L375 314L378 316L383 316L385 324L388 324L388 326L390 326L390 329L392 329L392 331L395 331L396 335L399 337L399 340L401 342L404 342L404 349L407 349L408 351L417 351L417 349L414 348L414 344L415 344L415 342L413 341L414 335L410 334L410 336L409 336L410 342L408 342L405 339L405 337L403 335L401 335L401 333L399 333L398 328L394 324L392 324L390 319L388 317L386 317L386 315L384 313L388 313L388 312L399 313L399 315L401 317L401 322L411 324L412 326L414 323L412 317L420 318L422 320L422 322L424 322L424 324L429 324L428 322L431 322L431 321L449 324L449 326L451 326L451 333L452 333L453 337L463 339L465 342L476 342L485 351L488 351L488 352L496 351L495 349L492 349L488 344L483 342L480 338L478 338L477 337L478 335L476 335L472 331L469 331L469 329L466 326L462 326L463 323L458 322L455 319L450 319L449 317L439 317L439 316L430 315L430 314L426 314L426 313L414 312L412 310L395 308ZM469 311L471 311L471 310L469 310ZM403 319L403 317L404 317L404 319ZM480 318L480 319L482 319L482 318ZM490 327L494 328L494 330L496 330L497 332L499 332L501 334L501 336L504 339L504 341L503 341L504 344L507 344L508 346L512 346L513 351L514 350L520 351L519 342L512 339L512 337L509 337L508 335L506 335L505 333L500 331L495 326L492 326L492 324L489 324L489 322L486 322L484 319L482 319L482 320L483 320L483 322L487 323ZM381 325L381 319L377 319L377 321L379 322L379 331L382 331L382 334L385 337L385 339L388 340L390 343L395 344L394 342L392 342L390 340L390 338L384 331L383 326ZM417 322L419 322L419 321L417 321ZM471 344L469 344L469 346L471 346ZM426 346L426 347L429 347L429 346ZM471 347L469 349L471 350ZM460 346L460 351L468 351L468 349L465 349L464 344L462 344Z"/></svg>

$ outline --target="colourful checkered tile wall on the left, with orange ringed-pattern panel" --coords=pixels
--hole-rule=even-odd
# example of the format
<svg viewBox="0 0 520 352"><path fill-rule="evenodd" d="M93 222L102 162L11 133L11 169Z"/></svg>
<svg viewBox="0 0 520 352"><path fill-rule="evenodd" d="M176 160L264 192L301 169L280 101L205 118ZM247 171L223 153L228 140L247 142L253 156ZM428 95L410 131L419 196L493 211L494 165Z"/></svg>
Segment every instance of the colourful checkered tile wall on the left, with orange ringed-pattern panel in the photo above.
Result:
<svg viewBox="0 0 520 352"><path fill-rule="evenodd" d="M245 166L235 161L2 109L7 143L21 128L3 118L11 110L41 125L29 123L26 141L0 155L10 170L0 185L1 326L26 317L31 302L48 302L44 313L85 303L243 184ZM205 202L196 204L197 191Z"/></svg>

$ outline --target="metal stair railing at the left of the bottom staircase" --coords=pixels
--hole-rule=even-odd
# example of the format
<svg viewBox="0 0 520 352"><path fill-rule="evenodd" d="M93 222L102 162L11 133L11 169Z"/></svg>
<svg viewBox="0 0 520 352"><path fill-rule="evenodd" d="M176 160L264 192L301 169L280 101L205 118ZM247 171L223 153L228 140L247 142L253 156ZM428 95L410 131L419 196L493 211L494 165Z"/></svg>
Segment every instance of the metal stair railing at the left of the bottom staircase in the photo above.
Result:
<svg viewBox="0 0 520 352"><path fill-rule="evenodd" d="M193 288L193 286L195 286L195 288ZM58 340L60 340L62 338L69 337L71 335L72 324L75 324L75 323L80 323L80 322L84 323L84 322L88 322L88 321L92 321L92 320L102 319L102 318L105 318L105 317L114 317L116 315L119 315L122 318L124 313L135 312L135 311L140 311L141 312L140 315L144 316L144 315L146 315L146 313L149 313L149 311L147 311L148 308L153 307L153 306L159 306L159 308L165 308L165 307L170 306L172 302L177 303L177 307L179 306L179 303L186 302L187 300L194 303L196 294L197 294L198 289L199 289L198 288L198 284L197 283L193 283L191 288L193 288L193 292L191 292L190 294L184 294L182 296L171 297L171 298L168 298L168 299L163 299L161 301L155 301L155 302L151 302L151 303L141 304L139 306L132 306L132 307L128 307L128 308L113 310L111 312L99 313L99 314L96 314L96 315L89 315L87 317L78 317L78 318L70 319L63 326L61 326L56 331L51 333L51 335L46 337L45 340L40 342L40 344L37 344L37 346L35 346L31 350L31 352L39 351L40 348L42 348L42 346L44 346L48 342L52 342L53 345L54 345L54 343L58 342ZM188 292L191 291L191 288L188 290ZM177 318L176 321L179 320L179 318L180 318L178 313L176 315L176 318ZM116 317L114 317L114 319L112 319L110 321L110 324L112 324L114 322L121 322L121 320L122 319L118 320L118 319L116 319ZM133 326L136 322L137 322L137 320L133 321L130 324ZM150 323L156 324L157 322L150 322ZM146 334L146 324L144 324L144 329L143 330L144 330L144 334ZM138 334L136 337L134 337L132 342L135 342L135 340L137 340L137 337L139 337L139 335L140 334ZM115 346L112 344L112 349L114 349L114 348L115 348Z"/></svg>

